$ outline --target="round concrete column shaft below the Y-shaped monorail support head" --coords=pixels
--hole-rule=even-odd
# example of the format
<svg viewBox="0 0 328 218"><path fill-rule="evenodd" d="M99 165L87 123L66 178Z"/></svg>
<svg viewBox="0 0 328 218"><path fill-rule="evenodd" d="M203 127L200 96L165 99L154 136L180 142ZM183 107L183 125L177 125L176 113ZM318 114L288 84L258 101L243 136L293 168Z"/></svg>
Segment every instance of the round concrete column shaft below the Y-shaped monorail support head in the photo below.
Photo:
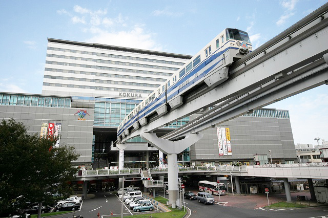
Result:
<svg viewBox="0 0 328 218"><path fill-rule="evenodd" d="M169 204L176 204L179 198L178 155L168 154Z"/></svg>

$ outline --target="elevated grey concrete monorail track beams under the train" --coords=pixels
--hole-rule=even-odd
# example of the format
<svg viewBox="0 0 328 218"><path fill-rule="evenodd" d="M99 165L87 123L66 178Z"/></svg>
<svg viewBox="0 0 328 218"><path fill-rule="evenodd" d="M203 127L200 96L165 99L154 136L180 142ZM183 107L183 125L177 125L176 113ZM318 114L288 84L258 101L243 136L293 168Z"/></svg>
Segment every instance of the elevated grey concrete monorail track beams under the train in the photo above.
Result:
<svg viewBox="0 0 328 218"><path fill-rule="evenodd" d="M186 125L162 136L175 140L328 82L328 3L304 17L229 68L229 79L214 88L198 86L175 110L154 117L122 142L204 108ZM325 57L325 58L324 58Z"/></svg>

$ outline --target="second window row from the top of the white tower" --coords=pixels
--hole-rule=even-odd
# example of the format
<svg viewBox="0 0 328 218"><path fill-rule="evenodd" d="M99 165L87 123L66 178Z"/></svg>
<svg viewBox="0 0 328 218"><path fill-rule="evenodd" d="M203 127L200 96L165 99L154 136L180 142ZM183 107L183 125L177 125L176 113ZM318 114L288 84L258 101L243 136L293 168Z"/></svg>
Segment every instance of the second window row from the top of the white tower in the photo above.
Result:
<svg viewBox="0 0 328 218"><path fill-rule="evenodd" d="M47 54L47 57L64 58L64 59L71 59L71 60L85 60L85 61L93 61L97 63L108 63L108 64L133 66L133 67L140 67L140 68L154 68L154 69L169 70L169 71L179 70L179 68L155 66L155 65L142 64L142 63L129 63L129 62L114 61L114 60L100 60L100 59L93 59L93 58L72 57L72 56L55 55L55 54Z"/></svg>

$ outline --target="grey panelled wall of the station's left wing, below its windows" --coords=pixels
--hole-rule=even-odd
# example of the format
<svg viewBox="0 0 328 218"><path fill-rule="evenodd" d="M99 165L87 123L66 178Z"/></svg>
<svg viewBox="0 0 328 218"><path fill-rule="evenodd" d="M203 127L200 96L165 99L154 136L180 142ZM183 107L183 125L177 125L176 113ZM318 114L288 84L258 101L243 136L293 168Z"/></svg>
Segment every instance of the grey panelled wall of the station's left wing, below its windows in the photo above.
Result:
<svg viewBox="0 0 328 218"><path fill-rule="evenodd" d="M86 120L74 115L79 109L87 110ZM0 118L23 122L31 134L40 134L43 122L61 123L60 145L73 146L80 154L74 164L91 163L94 109L0 105Z"/></svg>

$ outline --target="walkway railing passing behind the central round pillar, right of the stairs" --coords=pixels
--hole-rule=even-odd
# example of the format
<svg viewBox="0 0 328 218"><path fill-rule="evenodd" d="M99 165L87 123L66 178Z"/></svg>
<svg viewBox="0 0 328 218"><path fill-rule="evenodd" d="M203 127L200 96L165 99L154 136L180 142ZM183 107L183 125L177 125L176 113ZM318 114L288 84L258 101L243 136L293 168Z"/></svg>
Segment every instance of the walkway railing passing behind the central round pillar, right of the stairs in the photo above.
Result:
<svg viewBox="0 0 328 218"><path fill-rule="evenodd" d="M149 172L168 172L167 167L156 167L156 168L148 168ZM207 166L190 166L190 167L179 167L179 172L204 172L204 171L232 171L232 172L247 172L246 166L234 166L234 165L219 165L215 167L207 167Z"/></svg>

